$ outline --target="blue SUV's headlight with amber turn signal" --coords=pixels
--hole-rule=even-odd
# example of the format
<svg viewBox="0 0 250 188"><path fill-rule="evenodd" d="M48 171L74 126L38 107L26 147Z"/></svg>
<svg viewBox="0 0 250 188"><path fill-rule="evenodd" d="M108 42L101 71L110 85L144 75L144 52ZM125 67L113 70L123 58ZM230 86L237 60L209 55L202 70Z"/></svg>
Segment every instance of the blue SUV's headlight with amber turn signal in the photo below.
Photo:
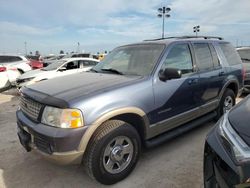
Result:
<svg viewBox="0 0 250 188"><path fill-rule="evenodd" d="M59 128L78 128L83 126L83 117L78 109L46 106L42 115L42 123Z"/></svg>

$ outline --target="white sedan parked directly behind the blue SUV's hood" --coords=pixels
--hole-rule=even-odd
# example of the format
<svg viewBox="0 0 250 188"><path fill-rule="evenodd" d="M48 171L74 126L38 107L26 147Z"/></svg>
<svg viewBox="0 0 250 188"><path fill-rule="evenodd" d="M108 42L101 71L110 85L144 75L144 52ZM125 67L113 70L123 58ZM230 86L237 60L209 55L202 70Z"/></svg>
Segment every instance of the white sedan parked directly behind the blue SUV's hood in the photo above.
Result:
<svg viewBox="0 0 250 188"><path fill-rule="evenodd" d="M22 74L17 80L17 88L51 78L88 71L99 63L92 58L67 58L58 60L45 68Z"/></svg>

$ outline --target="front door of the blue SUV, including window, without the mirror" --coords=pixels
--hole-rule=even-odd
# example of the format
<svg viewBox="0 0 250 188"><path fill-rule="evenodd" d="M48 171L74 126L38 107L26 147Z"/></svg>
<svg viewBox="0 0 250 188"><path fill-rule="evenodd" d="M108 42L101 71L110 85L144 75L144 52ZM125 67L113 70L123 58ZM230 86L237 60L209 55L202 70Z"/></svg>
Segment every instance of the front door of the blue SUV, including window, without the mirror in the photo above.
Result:
<svg viewBox="0 0 250 188"><path fill-rule="evenodd" d="M177 127L199 116L199 74L193 62L188 43L174 44L163 57L160 70L176 68L182 77L154 81L156 110L152 116L152 128L155 135Z"/></svg>

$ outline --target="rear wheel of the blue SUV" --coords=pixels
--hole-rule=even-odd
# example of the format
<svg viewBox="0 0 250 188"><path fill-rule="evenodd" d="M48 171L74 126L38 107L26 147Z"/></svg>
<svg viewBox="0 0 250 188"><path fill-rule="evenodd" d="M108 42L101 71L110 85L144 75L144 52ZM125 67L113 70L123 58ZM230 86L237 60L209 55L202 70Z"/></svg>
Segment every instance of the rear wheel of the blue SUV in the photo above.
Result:
<svg viewBox="0 0 250 188"><path fill-rule="evenodd" d="M215 120L219 120L220 117L228 112L235 105L235 94L233 90L226 89L223 96L221 97L220 104L217 108L217 116Z"/></svg>

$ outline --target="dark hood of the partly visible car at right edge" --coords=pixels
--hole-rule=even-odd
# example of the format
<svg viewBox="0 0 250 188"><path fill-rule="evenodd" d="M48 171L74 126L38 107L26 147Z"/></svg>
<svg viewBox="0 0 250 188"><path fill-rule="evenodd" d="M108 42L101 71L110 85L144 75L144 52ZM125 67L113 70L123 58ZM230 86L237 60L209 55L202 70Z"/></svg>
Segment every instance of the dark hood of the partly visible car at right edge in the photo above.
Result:
<svg viewBox="0 0 250 188"><path fill-rule="evenodd" d="M250 96L229 112L228 119L232 127L250 146Z"/></svg>

